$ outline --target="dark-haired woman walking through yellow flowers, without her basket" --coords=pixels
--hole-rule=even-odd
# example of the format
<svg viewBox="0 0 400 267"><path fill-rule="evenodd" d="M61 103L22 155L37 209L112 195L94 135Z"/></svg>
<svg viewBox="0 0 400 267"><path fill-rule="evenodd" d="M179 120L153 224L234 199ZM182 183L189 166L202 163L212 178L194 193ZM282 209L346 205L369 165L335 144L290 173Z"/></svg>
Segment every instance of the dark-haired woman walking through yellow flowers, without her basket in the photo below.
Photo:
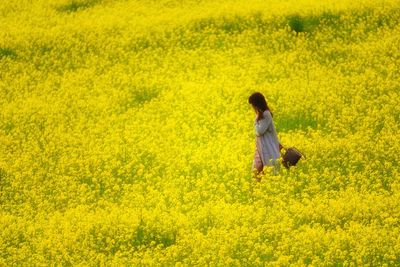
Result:
<svg viewBox="0 0 400 267"><path fill-rule="evenodd" d="M256 112L254 120L254 132L256 135L256 151L252 165L253 177L261 180L259 174L263 172L264 166L273 167L274 174L279 171L280 150L282 146L276 133L272 120L272 113L267 105L265 97L260 92L255 92L249 97L249 104Z"/></svg>

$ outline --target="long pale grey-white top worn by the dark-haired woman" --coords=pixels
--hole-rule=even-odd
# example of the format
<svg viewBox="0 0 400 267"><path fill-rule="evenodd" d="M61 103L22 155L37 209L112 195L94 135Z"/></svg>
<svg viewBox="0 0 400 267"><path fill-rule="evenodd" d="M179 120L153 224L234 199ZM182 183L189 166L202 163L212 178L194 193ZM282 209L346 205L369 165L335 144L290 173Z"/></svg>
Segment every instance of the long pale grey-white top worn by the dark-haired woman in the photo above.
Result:
<svg viewBox="0 0 400 267"><path fill-rule="evenodd" d="M280 157L279 139L276 133L272 115L269 110L263 112L264 118L257 122L254 119L254 132L256 134L256 146L260 153L263 165L273 166L275 160Z"/></svg>

